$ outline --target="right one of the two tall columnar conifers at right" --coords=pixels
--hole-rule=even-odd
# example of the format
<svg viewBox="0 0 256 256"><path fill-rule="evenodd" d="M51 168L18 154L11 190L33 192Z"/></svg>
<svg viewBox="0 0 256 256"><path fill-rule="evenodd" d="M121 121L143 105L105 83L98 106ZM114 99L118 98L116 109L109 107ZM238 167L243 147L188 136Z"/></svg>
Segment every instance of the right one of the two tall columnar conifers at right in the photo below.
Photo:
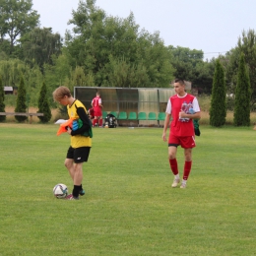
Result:
<svg viewBox="0 0 256 256"><path fill-rule="evenodd" d="M248 69L245 64L244 54L239 60L237 85L235 90L233 124L235 126L250 125L250 98L251 86Z"/></svg>

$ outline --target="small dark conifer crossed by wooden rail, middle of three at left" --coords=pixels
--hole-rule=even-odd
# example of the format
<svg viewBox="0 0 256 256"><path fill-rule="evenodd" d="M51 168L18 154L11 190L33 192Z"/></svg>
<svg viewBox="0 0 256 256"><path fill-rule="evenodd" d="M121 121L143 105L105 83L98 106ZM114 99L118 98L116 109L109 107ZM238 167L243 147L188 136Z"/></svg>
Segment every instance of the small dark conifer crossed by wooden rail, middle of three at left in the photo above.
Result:
<svg viewBox="0 0 256 256"><path fill-rule="evenodd" d="M18 88L18 96L16 101L15 112L26 113L26 88L24 84L24 78L21 77L20 87ZM24 122L28 119L28 116L15 115L18 122Z"/></svg>

